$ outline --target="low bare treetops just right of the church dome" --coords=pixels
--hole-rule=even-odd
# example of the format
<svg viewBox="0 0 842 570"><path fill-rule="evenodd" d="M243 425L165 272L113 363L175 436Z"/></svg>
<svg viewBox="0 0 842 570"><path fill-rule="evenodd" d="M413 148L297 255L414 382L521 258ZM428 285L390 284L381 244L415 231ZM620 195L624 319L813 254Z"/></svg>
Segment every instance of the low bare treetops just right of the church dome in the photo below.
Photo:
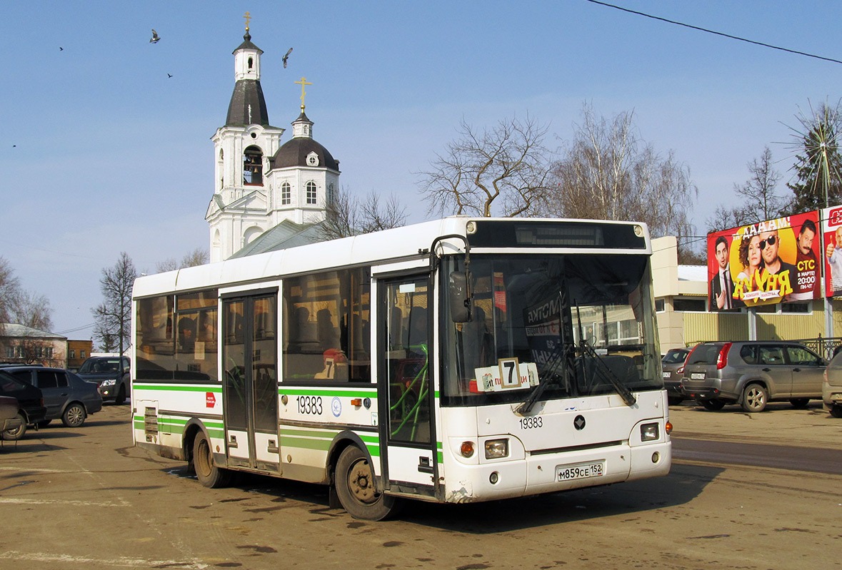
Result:
<svg viewBox="0 0 842 570"><path fill-rule="evenodd" d="M344 187L334 194L326 210L327 217L318 229L322 240L397 228L406 223L408 215L394 194L385 202L374 191L360 199Z"/></svg>

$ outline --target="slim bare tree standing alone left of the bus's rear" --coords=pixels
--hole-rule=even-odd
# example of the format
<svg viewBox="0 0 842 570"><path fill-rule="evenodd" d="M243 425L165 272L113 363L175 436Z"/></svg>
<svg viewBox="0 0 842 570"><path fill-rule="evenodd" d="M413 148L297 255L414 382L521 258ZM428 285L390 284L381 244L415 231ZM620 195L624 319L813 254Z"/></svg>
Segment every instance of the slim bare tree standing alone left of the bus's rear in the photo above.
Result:
<svg viewBox="0 0 842 570"><path fill-rule="evenodd" d="M114 267L105 267L99 279L104 301L92 309L93 338L104 351L117 348L123 354L131 342L131 288L137 271L125 251Z"/></svg>

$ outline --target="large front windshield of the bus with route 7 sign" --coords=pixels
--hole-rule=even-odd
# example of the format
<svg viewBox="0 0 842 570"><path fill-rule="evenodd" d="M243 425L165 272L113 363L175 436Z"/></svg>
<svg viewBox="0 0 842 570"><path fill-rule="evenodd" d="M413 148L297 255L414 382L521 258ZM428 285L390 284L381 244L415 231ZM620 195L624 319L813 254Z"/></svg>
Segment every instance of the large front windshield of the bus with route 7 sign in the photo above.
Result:
<svg viewBox="0 0 842 570"><path fill-rule="evenodd" d="M663 389L647 256L478 254L470 271L469 322L443 295L442 404Z"/></svg>

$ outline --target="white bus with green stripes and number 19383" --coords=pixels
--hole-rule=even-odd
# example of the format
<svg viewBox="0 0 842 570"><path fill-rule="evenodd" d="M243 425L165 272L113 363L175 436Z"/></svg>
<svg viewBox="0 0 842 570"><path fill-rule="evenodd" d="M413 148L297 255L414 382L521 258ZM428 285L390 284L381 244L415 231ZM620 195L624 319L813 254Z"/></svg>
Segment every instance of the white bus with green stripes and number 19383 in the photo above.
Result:
<svg viewBox="0 0 842 570"><path fill-rule="evenodd" d="M451 217L140 277L136 446L381 520L669 472L645 225Z"/></svg>

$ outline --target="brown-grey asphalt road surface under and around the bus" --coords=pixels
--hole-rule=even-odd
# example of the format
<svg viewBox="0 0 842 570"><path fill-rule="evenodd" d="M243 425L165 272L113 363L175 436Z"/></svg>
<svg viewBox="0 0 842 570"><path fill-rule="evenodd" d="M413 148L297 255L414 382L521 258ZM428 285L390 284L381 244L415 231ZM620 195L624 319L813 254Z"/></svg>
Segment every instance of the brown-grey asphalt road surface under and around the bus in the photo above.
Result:
<svg viewBox="0 0 842 570"><path fill-rule="evenodd" d="M842 449L842 421L814 406L682 406L671 410L678 457L667 477L410 503L379 523L330 509L315 485L248 476L203 488L184 463L131 446L130 409L107 405L82 428L51 425L0 448L0 568L840 567L842 476L802 467ZM818 451L794 466L741 459L805 447Z"/></svg>

